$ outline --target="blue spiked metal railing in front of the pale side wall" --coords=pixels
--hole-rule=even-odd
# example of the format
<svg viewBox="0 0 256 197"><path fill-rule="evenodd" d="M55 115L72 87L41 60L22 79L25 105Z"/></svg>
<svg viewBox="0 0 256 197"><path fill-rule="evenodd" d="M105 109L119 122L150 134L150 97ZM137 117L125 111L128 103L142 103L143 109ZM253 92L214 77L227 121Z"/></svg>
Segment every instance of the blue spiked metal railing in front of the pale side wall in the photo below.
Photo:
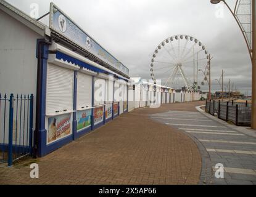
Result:
<svg viewBox="0 0 256 197"><path fill-rule="evenodd" d="M33 94L0 94L0 163L12 163L32 153Z"/></svg>

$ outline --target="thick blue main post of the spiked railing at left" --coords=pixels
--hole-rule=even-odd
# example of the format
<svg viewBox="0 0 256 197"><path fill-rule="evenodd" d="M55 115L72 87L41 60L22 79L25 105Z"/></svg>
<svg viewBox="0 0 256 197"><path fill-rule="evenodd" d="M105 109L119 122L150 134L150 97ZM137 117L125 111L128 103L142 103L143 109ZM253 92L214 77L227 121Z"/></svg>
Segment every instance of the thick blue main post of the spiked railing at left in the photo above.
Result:
<svg viewBox="0 0 256 197"><path fill-rule="evenodd" d="M12 166L12 130L14 125L14 94L10 94L9 100L9 143L8 143L8 167Z"/></svg>

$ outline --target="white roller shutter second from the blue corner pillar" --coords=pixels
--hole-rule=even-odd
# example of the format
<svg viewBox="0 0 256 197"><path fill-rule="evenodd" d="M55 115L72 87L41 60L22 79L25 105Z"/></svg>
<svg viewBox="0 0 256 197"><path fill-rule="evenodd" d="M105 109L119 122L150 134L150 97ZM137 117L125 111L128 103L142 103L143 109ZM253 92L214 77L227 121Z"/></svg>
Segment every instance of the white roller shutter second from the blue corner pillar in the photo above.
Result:
<svg viewBox="0 0 256 197"><path fill-rule="evenodd" d="M76 108L92 107L93 76L78 72L77 74L77 103Z"/></svg>

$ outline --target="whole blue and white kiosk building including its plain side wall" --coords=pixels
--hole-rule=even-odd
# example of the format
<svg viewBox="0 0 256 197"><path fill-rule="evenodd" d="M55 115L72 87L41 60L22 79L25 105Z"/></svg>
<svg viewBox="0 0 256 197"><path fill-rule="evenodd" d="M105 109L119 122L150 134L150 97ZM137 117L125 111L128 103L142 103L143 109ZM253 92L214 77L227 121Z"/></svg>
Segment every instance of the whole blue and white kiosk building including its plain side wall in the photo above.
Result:
<svg viewBox="0 0 256 197"><path fill-rule="evenodd" d="M38 156L128 111L129 69L54 4L49 18L0 0L0 92L34 95Z"/></svg>

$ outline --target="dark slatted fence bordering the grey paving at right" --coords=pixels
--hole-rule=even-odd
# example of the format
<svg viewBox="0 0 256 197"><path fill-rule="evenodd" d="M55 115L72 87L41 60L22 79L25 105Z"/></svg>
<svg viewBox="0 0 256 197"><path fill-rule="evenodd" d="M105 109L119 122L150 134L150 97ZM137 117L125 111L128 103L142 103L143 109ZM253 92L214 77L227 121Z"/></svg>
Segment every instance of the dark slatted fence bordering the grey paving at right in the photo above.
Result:
<svg viewBox="0 0 256 197"><path fill-rule="evenodd" d="M251 104L220 102L220 100L206 101L205 111L211 115L217 115L224 121L229 121L237 126L250 126Z"/></svg>

